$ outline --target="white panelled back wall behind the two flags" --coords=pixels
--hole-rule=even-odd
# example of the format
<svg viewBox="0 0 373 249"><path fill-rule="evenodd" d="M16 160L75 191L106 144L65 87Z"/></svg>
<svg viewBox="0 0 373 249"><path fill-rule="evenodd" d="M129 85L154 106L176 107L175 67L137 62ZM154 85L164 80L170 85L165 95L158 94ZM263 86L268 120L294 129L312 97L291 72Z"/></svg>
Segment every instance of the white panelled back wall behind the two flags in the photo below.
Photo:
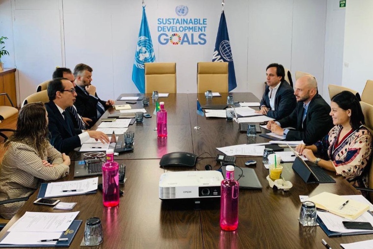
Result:
<svg viewBox="0 0 373 249"><path fill-rule="evenodd" d="M17 66L21 101L51 78L55 66L73 69L80 62L93 67L92 83L101 98L137 92L132 68L141 1L0 0L0 4L0 13L6 13L0 15L0 25L15 48L9 66ZM180 4L188 6L188 18L208 19L206 45L158 43L157 18L178 17L175 7ZM326 0L226 0L224 9L238 83L234 91L261 97L266 66L278 62L291 69L293 78L296 70L315 75L322 92ZM221 1L146 0L146 14L157 61L176 61L178 92L195 92L196 63L212 59Z"/></svg>

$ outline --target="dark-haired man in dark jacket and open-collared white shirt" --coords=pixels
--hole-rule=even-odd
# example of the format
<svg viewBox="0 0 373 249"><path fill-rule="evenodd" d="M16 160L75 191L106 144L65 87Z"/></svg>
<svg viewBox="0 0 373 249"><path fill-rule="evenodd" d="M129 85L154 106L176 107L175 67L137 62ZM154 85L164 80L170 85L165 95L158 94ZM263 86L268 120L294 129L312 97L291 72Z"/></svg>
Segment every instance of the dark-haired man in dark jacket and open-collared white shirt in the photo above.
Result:
<svg viewBox="0 0 373 249"><path fill-rule="evenodd" d="M274 119L288 116L296 106L293 87L285 81L285 69L277 63L266 68L266 90L260 102L261 113Z"/></svg>

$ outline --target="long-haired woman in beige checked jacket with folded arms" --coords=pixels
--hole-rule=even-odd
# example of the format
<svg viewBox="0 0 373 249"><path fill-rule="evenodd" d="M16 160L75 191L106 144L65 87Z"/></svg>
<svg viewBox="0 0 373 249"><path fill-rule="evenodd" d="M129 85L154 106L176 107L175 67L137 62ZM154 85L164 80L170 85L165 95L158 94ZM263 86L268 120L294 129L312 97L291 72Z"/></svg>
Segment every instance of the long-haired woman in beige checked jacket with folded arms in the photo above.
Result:
<svg viewBox="0 0 373 249"><path fill-rule="evenodd" d="M0 200L22 198L37 190L42 180L69 174L70 158L48 141L48 113L41 102L25 105L18 114L17 129L4 143L0 166ZM12 218L25 201L0 205L0 216Z"/></svg>

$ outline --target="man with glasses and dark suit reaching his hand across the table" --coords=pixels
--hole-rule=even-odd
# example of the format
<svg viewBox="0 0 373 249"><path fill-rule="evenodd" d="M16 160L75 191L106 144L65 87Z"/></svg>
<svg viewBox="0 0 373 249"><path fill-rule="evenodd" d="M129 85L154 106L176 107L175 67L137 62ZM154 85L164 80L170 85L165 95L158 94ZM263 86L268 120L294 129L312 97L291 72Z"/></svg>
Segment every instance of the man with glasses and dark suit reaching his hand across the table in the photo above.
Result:
<svg viewBox="0 0 373 249"><path fill-rule="evenodd" d="M82 131L75 129L70 112L65 111L71 107L76 99L73 83L65 78L53 79L48 85L49 102L45 104L48 112L48 129L51 144L61 153L69 153L81 146L89 138L95 138L108 143L106 134L99 131Z"/></svg>

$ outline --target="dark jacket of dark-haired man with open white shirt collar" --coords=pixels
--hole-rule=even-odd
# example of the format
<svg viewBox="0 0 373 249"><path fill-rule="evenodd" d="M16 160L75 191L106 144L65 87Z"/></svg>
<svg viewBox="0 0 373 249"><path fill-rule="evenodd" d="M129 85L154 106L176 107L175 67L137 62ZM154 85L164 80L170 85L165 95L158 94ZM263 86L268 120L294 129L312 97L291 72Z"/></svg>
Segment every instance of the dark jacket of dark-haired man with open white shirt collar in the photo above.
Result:
<svg viewBox="0 0 373 249"><path fill-rule="evenodd" d="M266 90L264 91L260 106L264 105L267 108L270 108L268 93L269 85L266 85ZM287 81L283 81L280 83L280 86L278 87L276 96L274 98L274 111L268 110L267 116L274 119L281 119L292 113L295 106L296 99L294 95L294 89Z"/></svg>

